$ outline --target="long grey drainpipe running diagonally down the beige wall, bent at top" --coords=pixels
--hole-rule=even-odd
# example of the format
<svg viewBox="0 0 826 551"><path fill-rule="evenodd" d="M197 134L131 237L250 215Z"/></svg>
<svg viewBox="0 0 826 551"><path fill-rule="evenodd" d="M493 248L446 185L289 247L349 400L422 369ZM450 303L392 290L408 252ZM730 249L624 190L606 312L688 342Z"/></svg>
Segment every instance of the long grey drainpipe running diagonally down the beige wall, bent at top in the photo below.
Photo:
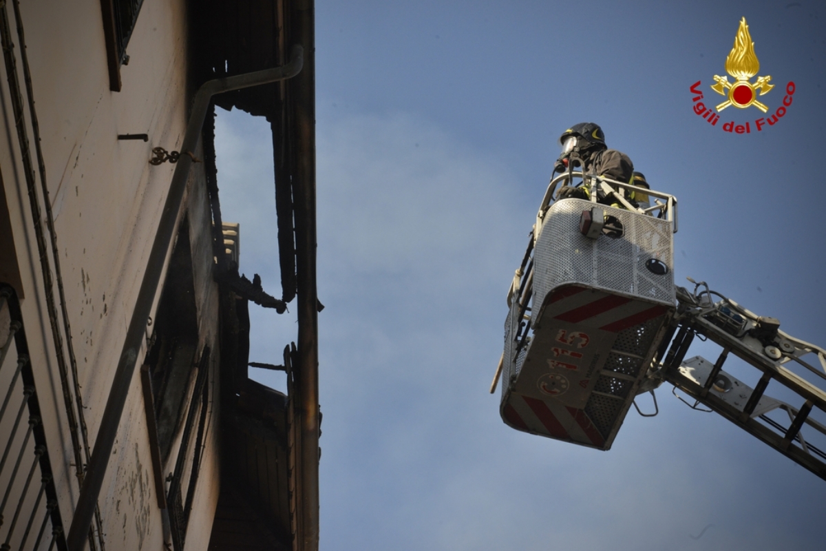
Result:
<svg viewBox="0 0 826 551"><path fill-rule="evenodd" d="M103 485L103 477L106 476L107 464L112 456L112 447L115 444L118 425L121 422L121 414L135 374L135 363L137 363L140 347L143 344L146 323L149 321L155 292L158 289L169 245L172 243L175 233L175 222L178 220L178 212L181 210L183 192L187 187L189 169L192 167L192 157L197 148L198 140L201 139L201 131L211 98L216 94L230 92L231 90L240 90L241 88L250 88L292 78L301 71L304 62L303 55L304 50L301 46L293 45L290 50L290 61L286 65L255 71L254 73L239 74L234 77L216 78L204 83L195 94L195 103L192 107L192 114L189 116L187 133L183 136L181 156L175 165L172 184L169 186L169 195L166 197L164 211L158 225L158 233L155 234L150 259L146 266L143 281L140 283L140 291L135 303L135 310L132 311L129 329L126 331L121 359L117 363L112 390L109 392L106 409L103 411L100 429L97 430L95 447L87 466L86 477L83 479L83 487L80 488L78 506L74 510L74 518L69 528L69 537L66 540L69 551L83 551L86 544L89 525L92 522L95 505L97 504L97 496L100 494Z"/></svg>

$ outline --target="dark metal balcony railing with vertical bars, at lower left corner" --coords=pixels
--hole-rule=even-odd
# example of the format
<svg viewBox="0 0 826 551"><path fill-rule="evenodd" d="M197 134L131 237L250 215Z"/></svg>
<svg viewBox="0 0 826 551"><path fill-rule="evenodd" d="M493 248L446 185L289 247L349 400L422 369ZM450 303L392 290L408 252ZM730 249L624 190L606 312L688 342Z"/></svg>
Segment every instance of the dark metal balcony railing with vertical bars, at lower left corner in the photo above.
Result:
<svg viewBox="0 0 826 551"><path fill-rule="evenodd" d="M0 346L0 550L64 550L63 522L20 303L12 287L3 283Z"/></svg>

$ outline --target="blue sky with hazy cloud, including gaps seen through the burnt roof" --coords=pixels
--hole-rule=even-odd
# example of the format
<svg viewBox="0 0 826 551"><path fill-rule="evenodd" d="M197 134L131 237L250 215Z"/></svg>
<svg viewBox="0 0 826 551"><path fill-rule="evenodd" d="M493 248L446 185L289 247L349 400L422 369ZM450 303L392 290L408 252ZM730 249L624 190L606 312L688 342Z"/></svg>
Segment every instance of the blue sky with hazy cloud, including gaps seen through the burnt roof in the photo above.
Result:
<svg viewBox="0 0 826 551"><path fill-rule="evenodd" d="M316 2L321 549L822 547L826 482L670 387L608 452L512 430L487 393L558 136L581 121L678 198L678 284L826 344L826 9L583 6ZM710 126L689 90L722 101L709 86L741 17L772 112L795 83L748 135L722 125L757 109ZM268 126L221 112L217 128L241 270L277 290ZM252 313L250 359L278 363L294 316Z"/></svg>

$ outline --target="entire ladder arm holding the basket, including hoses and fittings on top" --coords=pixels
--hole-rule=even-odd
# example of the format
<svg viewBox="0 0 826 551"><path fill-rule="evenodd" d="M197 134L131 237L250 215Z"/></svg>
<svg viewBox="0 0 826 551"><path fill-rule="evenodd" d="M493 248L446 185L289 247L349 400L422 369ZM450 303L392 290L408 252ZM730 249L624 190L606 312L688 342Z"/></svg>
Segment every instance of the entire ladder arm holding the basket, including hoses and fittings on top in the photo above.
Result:
<svg viewBox="0 0 826 551"><path fill-rule="evenodd" d="M775 318L757 316L705 283L697 283L694 292L677 287L676 298L672 338L662 341L658 356L664 358L655 359L652 382L671 383L695 400L693 407L702 404L716 411L826 479L826 451L804 436L805 429L818 444L826 437L826 426L811 416L814 408L826 412L826 350L787 335ZM697 336L721 348L714 363L700 356L685 360ZM742 359L757 379L753 388L724 370L729 354ZM772 381L786 387L793 403L765 394ZM769 415L780 411L788 420Z"/></svg>

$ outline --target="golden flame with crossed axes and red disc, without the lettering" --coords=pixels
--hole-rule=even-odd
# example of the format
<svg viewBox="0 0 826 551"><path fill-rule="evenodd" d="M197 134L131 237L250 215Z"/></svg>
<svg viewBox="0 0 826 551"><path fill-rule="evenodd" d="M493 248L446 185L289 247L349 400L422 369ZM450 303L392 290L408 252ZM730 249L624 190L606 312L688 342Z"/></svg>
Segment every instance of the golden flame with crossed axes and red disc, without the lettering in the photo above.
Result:
<svg viewBox="0 0 826 551"><path fill-rule="evenodd" d="M734 37L734 47L729 52L729 57L725 59L725 71L733 76L735 80L733 83L729 83L728 77L720 77L715 74L714 81L717 83L711 85L714 92L729 97L717 106L717 111L723 111L730 105L740 109L753 105L760 111L767 112L768 107L757 101L757 91L759 90L762 96L770 92L771 88L774 88L774 84L769 84L770 76L757 77L754 83L749 82L749 78L752 78L759 70L760 62L757 61L757 55L754 54L754 42L752 42L752 36L748 34L746 18L743 17L740 20L737 36Z"/></svg>

